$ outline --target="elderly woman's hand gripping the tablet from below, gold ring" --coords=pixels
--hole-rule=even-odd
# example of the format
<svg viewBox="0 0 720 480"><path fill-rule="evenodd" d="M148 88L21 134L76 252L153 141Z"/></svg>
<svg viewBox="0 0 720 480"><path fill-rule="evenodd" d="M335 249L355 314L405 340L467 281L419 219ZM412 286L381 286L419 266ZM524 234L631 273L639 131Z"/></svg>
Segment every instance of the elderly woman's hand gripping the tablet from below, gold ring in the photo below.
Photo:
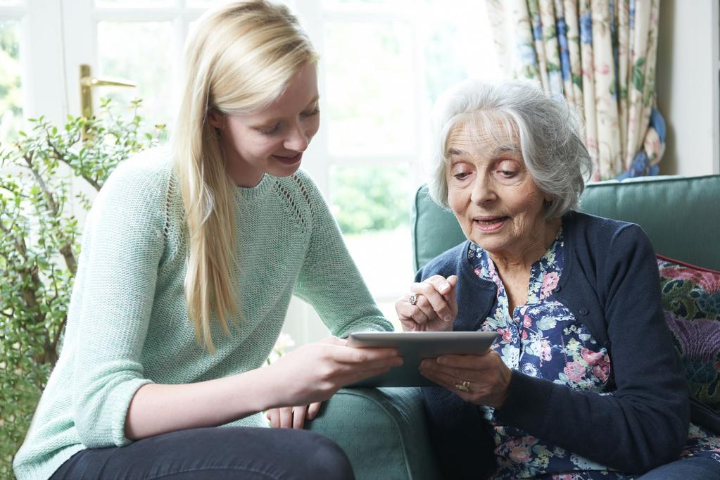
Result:
<svg viewBox="0 0 720 480"><path fill-rule="evenodd" d="M510 368L497 352L426 358L420 373L466 402L500 408L510 389Z"/></svg>

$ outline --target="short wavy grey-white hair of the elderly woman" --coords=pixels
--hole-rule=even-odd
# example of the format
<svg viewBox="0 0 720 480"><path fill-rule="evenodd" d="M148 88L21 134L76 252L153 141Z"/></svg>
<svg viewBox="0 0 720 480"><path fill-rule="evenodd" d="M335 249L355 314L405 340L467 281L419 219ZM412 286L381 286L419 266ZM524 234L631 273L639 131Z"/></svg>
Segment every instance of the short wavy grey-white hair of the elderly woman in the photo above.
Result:
<svg viewBox="0 0 720 480"><path fill-rule="evenodd" d="M436 101L428 181L436 203L449 207L447 142L454 128L464 122L491 137L499 138L503 131L519 137L528 172L539 189L552 197L546 204L546 218L561 217L578 207L593 173L593 161L582 142L582 123L564 99L549 98L531 81L466 80Z"/></svg>

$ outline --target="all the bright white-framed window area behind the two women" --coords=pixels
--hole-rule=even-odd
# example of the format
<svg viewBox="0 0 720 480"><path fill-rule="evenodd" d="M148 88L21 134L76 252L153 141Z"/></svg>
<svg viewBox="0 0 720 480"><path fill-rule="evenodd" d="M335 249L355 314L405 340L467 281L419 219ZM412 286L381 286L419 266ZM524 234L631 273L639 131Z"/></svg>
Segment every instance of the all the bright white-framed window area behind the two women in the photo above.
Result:
<svg viewBox="0 0 720 480"><path fill-rule="evenodd" d="M0 0L0 135L14 135L22 115L45 114L60 124L66 114L78 114L81 63L94 76L138 85L103 87L95 101L140 96L143 117L171 128L184 39L219 1ZM433 102L462 78L500 77L485 6L476 0L285 3L320 53L323 122L303 168L392 319L395 299L413 278L410 212L425 181ZM23 59L25 51L32 58ZM307 320L312 316L293 301L289 328L297 343L326 335L324 325Z"/></svg>

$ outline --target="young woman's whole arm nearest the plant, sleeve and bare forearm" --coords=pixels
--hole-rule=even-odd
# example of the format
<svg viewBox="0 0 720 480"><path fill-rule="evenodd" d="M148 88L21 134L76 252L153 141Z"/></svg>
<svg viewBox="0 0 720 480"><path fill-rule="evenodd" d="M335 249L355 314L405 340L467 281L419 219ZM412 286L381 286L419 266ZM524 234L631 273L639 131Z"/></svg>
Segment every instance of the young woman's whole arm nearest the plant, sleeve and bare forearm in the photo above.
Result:
<svg viewBox="0 0 720 480"><path fill-rule="evenodd" d="M259 371L196 384L153 384L143 355L163 341L148 331L156 289L163 288L157 279L166 248L169 176L156 155L143 153L119 166L87 219L63 345L73 363L73 422L86 447L122 446L269 407L316 402L364 373L389 368L393 351L359 353L328 340ZM171 327L186 320L166 321Z"/></svg>

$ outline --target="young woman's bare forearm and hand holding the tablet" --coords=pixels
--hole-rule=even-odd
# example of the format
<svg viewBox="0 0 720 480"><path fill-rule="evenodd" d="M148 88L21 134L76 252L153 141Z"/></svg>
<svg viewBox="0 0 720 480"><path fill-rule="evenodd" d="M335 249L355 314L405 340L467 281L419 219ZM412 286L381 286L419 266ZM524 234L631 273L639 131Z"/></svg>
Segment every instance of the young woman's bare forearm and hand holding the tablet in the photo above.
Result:
<svg viewBox="0 0 720 480"><path fill-rule="evenodd" d="M125 435L132 440L173 430L222 425L264 409L326 400L342 386L401 363L392 348L351 348L327 338L269 367L196 384L147 384L132 398ZM308 366L312 366L308 368Z"/></svg>

